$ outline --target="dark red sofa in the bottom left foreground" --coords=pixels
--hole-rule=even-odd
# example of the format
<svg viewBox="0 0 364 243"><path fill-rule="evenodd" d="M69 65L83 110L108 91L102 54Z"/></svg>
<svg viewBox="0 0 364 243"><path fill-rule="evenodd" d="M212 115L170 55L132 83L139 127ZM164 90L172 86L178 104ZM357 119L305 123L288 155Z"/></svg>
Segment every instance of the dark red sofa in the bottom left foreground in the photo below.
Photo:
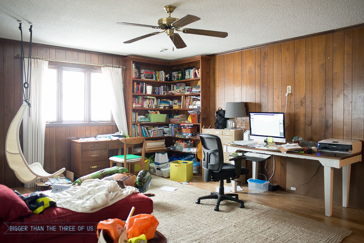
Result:
<svg viewBox="0 0 364 243"><path fill-rule="evenodd" d="M142 193L130 196L95 213L77 213L50 207L33 214L15 192L0 184L0 241L2 242L97 242L96 225L102 220L125 220L131 207L136 214L151 214L153 201Z"/></svg>

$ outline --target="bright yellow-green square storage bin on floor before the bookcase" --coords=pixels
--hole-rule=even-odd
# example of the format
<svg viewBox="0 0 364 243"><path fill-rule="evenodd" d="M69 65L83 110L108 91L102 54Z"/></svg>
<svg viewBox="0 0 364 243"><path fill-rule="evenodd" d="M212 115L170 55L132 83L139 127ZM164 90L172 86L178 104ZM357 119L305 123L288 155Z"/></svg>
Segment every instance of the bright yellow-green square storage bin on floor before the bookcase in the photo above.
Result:
<svg viewBox="0 0 364 243"><path fill-rule="evenodd" d="M169 178L174 181L191 181L193 179L193 161L172 161Z"/></svg>

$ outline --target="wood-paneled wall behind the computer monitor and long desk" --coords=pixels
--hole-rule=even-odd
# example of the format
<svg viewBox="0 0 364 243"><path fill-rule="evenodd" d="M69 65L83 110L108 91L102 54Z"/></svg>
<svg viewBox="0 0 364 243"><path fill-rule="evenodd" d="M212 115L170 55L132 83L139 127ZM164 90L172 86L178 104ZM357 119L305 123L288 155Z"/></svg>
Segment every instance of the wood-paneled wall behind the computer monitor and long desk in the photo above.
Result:
<svg viewBox="0 0 364 243"><path fill-rule="evenodd" d="M299 136L307 141L332 137L363 141L364 27L216 56L214 65L215 110L224 109L226 102L243 101L250 112L284 112L287 85L291 85L285 114L288 140ZM294 175L287 174L287 166L295 165L276 158L272 179L283 188L295 181ZM308 171L299 169L299 173L307 172L306 180L312 176ZM323 176L320 173L317 176ZM349 204L362 208L364 196L358 195L363 174L363 162L352 166ZM315 184L309 186L315 190ZM313 194L323 197L323 191Z"/></svg>

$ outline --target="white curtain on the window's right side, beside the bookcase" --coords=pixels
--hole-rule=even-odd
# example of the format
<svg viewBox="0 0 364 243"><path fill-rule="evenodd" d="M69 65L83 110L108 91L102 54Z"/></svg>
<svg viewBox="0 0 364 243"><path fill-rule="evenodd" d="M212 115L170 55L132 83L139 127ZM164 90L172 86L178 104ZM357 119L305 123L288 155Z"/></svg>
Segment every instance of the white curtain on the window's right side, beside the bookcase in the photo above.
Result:
<svg viewBox="0 0 364 243"><path fill-rule="evenodd" d="M125 113L125 102L123 93L122 69L112 67L101 68L110 88L111 112L120 132L128 135Z"/></svg>

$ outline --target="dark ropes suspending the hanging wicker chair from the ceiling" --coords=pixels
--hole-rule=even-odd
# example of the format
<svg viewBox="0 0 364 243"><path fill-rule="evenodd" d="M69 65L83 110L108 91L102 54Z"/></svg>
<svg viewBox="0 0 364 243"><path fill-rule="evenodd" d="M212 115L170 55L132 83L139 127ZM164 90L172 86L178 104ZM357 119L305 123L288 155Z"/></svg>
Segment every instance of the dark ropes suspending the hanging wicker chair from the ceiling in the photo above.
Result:
<svg viewBox="0 0 364 243"><path fill-rule="evenodd" d="M30 32L30 38L29 38L29 52L28 52L28 67L27 67L27 72L25 72L25 55L24 55L24 43L23 43L23 30L22 30L22 20L18 20L19 22L19 30L20 30L20 37L21 37L21 50L20 50L20 55L21 55L21 82L23 84L23 96L24 96L24 102L26 104L28 104L28 107L30 108L30 80L31 80L31 48L32 48L32 27L34 25L34 23L30 23L30 27L29 27L29 32ZM30 116L30 109L29 109L29 116Z"/></svg>

